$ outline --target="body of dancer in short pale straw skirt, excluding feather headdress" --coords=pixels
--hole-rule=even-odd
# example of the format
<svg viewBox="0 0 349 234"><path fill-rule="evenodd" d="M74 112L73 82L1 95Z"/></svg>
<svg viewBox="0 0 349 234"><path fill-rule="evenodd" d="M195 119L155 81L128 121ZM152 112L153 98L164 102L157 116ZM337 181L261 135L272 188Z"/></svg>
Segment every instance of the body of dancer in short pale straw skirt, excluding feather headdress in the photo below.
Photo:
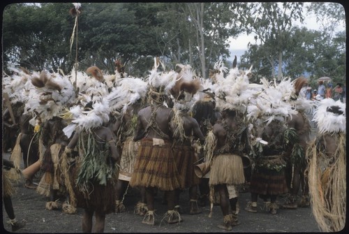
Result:
<svg viewBox="0 0 349 234"><path fill-rule="evenodd" d="M246 142L240 142L242 129L246 129L235 110L225 109L222 118L214 124L211 134L207 136L207 145L211 145L207 156L211 158L209 185L211 187L211 203L215 191L219 194L219 204L223 212L223 225L218 225L226 231L237 226L237 189L234 187L245 182L242 152ZM205 145L206 148L208 146ZM235 193L232 200L230 193ZM230 204L232 203L232 204Z"/></svg>

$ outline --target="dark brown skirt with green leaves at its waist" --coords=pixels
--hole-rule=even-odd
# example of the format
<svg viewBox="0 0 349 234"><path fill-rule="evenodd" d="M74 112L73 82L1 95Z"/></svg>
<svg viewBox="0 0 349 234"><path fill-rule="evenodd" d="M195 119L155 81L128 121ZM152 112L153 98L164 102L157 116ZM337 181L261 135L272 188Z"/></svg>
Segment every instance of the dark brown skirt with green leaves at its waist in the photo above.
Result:
<svg viewBox="0 0 349 234"><path fill-rule="evenodd" d="M273 166L285 164L281 156L268 156L270 162L274 163ZM288 193L288 186L285 178L285 168L282 169L269 169L265 166L256 166L251 175L250 191L251 193L258 193L262 195L280 195ZM264 160L262 163L266 164Z"/></svg>

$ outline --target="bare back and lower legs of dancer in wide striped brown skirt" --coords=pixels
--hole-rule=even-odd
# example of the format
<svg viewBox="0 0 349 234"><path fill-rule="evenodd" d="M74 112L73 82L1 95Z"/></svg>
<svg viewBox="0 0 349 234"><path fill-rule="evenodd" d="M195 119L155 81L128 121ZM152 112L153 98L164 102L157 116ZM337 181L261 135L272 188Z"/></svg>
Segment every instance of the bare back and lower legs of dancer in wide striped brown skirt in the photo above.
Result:
<svg viewBox="0 0 349 234"><path fill-rule="evenodd" d="M137 141L142 138L159 138L170 140L172 136L170 131L170 121L173 117L173 111L171 108L165 107L165 105L157 105L156 107L155 121L156 124L158 124L158 128L161 129L165 135L163 136L160 133L157 133L152 128L149 128L147 133L145 133L147 124L151 119L151 106L148 106L146 108L142 108L138 112L138 124L133 140ZM156 194L156 187L147 187L145 190L148 210L154 211L154 196ZM173 210L175 197L174 191L165 191L165 196L168 200L168 210Z"/></svg>

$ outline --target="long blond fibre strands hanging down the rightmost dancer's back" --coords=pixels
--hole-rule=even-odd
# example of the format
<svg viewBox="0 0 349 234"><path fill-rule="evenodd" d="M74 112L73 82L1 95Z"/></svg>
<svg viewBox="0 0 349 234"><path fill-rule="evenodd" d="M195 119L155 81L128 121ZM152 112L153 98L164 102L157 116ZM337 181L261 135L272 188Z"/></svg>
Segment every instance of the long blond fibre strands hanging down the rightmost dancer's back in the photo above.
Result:
<svg viewBox="0 0 349 234"><path fill-rule="evenodd" d="M346 133L334 134L332 138L336 139L333 154L327 155L326 150L318 145L318 139L309 143L306 152L311 208L323 232L338 232L346 228Z"/></svg>

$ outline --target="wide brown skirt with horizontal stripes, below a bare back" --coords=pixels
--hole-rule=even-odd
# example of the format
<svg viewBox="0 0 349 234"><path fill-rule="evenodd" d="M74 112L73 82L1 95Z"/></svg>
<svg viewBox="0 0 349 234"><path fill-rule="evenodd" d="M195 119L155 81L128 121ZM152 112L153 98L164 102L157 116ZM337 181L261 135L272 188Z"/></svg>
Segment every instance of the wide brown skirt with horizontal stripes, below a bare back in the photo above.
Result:
<svg viewBox="0 0 349 234"><path fill-rule="evenodd" d="M131 177L131 187L157 187L163 191L179 188L179 175L172 143L154 145L153 139L142 139Z"/></svg>

